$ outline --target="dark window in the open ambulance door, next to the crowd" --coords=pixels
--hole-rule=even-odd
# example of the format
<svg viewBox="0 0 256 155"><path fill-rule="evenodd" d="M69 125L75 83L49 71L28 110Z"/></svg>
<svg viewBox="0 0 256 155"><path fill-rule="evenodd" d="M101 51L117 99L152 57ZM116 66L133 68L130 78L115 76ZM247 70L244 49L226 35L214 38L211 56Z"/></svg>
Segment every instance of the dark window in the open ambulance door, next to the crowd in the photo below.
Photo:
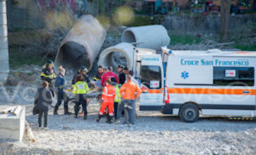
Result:
<svg viewBox="0 0 256 155"><path fill-rule="evenodd" d="M141 66L141 84L149 89L162 88L162 73L160 66Z"/></svg>

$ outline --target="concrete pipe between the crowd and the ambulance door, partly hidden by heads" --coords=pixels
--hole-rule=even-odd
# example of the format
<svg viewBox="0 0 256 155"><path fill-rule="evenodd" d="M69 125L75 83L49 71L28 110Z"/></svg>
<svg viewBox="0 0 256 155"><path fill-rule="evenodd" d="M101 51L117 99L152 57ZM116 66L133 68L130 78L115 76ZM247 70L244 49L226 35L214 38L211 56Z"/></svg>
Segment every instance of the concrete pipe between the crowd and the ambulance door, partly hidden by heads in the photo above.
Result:
<svg viewBox="0 0 256 155"><path fill-rule="evenodd" d="M112 66L116 69L119 64L122 64L131 69L134 63L134 48L129 43L109 47L101 52L98 65Z"/></svg>

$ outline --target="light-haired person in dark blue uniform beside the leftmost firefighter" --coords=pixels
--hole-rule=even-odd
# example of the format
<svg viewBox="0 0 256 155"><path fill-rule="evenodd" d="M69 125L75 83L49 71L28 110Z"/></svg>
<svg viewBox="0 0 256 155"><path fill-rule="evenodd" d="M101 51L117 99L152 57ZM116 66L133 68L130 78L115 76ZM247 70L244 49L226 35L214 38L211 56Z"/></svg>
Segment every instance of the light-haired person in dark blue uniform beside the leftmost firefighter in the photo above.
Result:
<svg viewBox="0 0 256 155"><path fill-rule="evenodd" d="M58 74L58 77L55 81L55 88L57 88L58 92L57 92L57 95L58 95L58 98L57 98L57 103L54 107L54 111L53 111L53 114L54 115L57 115L58 114L58 108L62 102L62 100L64 101L64 114L71 114L71 112L68 111L68 97L66 95L66 93L63 91L64 89L64 85L65 85L65 79L64 79L64 75L65 75L65 69L62 68L62 66L59 67L59 74Z"/></svg>

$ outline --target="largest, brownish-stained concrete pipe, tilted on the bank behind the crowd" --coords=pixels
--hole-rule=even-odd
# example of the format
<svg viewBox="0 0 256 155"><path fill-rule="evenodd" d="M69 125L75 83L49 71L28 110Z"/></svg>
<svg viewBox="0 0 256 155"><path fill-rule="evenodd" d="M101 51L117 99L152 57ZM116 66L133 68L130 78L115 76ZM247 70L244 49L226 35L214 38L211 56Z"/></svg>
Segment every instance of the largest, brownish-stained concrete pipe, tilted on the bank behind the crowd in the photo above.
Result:
<svg viewBox="0 0 256 155"><path fill-rule="evenodd" d="M97 19L91 15L83 15L62 41L55 58L55 69L62 65L77 70L84 65L90 70L105 37L106 30Z"/></svg>

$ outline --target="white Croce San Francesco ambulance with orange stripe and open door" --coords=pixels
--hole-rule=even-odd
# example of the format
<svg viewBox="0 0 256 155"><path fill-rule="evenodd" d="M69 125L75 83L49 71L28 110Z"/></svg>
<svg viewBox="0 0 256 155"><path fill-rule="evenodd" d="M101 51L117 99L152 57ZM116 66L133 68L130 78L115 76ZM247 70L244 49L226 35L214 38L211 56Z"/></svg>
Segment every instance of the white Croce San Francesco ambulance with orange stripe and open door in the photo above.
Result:
<svg viewBox="0 0 256 155"><path fill-rule="evenodd" d="M201 115L256 115L256 52L162 51L135 52L140 110L161 110L184 122Z"/></svg>

